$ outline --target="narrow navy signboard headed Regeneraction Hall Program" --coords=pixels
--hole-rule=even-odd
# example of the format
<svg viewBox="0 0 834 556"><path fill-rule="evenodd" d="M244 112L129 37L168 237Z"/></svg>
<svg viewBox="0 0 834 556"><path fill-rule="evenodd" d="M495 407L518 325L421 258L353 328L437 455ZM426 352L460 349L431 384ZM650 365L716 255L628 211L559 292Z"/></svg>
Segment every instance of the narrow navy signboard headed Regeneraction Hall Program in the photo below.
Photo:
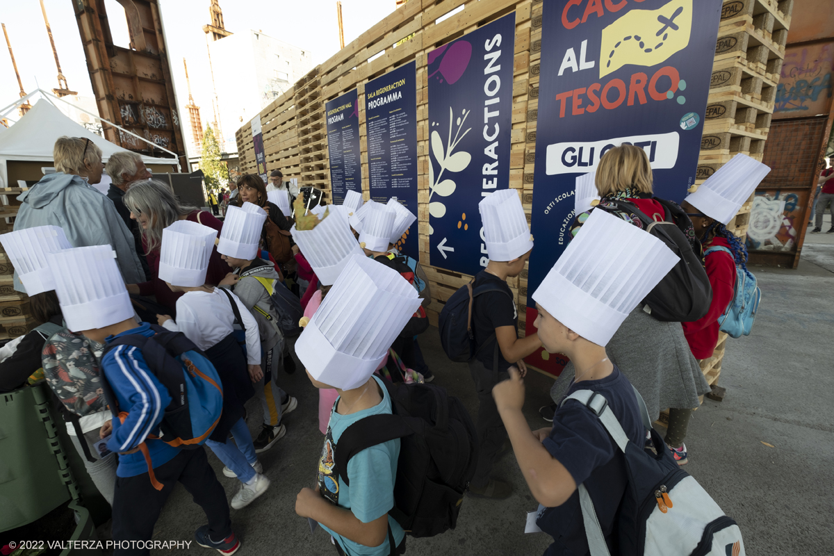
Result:
<svg viewBox="0 0 834 556"><path fill-rule="evenodd" d="M359 101L356 89L334 98L324 107L327 115L327 153L333 203L344 203L348 189L362 193L362 157L359 153Z"/></svg>

